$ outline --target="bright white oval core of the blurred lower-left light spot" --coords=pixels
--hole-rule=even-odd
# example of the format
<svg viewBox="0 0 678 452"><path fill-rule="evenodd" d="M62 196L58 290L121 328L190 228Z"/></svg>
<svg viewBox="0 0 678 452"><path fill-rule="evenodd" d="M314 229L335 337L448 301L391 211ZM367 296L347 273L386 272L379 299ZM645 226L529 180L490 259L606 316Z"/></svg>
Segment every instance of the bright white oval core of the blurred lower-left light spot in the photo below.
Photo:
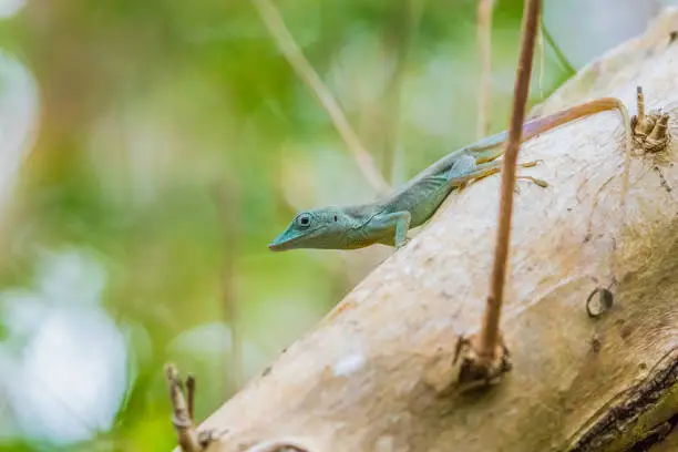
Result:
<svg viewBox="0 0 678 452"><path fill-rule="evenodd" d="M30 436L84 441L111 428L124 394L124 340L101 311L48 316L8 382L10 403Z"/></svg>

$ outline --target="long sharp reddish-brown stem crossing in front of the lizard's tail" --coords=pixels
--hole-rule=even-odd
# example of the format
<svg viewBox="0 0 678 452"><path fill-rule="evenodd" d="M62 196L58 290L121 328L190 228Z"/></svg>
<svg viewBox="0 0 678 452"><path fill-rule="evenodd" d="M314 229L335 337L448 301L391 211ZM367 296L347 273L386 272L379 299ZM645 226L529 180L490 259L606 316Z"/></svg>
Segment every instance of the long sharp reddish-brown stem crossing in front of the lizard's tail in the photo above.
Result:
<svg viewBox="0 0 678 452"><path fill-rule="evenodd" d="M493 360L500 340L500 319L506 279L506 260L508 257L508 242L511 239L511 216L513 213L513 191L515 188L515 167L523 134L525 105L530 92L530 78L532 75L532 60L538 27L541 0L525 0L523 12L523 39L521 54L515 75L513 90L513 112L508 127L508 138L504 163L502 165L502 197L500 204L499 228L490 296L483 318L480 335L479 356L485 360Z"/></svg>

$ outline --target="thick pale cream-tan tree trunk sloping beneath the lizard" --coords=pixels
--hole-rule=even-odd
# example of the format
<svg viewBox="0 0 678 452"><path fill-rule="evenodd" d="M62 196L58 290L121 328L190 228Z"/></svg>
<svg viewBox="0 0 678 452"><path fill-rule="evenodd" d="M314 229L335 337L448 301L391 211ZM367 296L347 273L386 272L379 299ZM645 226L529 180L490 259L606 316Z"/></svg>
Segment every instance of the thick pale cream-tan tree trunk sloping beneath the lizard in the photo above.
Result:
<svg viewBox="0 0 678 452"><path fill-rule="evenodd" d="M600 96L619 97L634 114L641 85L647 107L670 113L675 129L675 31L678 11L668 10L533 115ZM500 384L460 394L452 366L460 335L481 325L495 176L450 196L403 250L207 419L199 430L222 435L206 450L623 451L657 427L656 436L670 430L678 145L633 158L624 206L623 132L618 112L604 112L521 151L520 161L543 163L520 173L551 186L518 184L502 319L513 369ZM596 288L608 288L614 304L590 318L585 304ZM677 450L676 436L656 450Z"/></svg>

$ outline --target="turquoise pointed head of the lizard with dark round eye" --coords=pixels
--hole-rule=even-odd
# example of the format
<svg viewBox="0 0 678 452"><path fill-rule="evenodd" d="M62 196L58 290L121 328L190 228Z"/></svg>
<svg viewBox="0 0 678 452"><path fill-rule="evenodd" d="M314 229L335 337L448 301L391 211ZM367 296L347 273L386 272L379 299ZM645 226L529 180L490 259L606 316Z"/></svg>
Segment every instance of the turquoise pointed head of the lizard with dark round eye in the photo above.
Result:
<svg viewBox="0 0 678 452"><path fill-rule="evenodd" d="M295 248L338 248L337 237L346 229L345 214L339 208L328 207L297 214L287 229L269 245L271 251Z"/></svg>

